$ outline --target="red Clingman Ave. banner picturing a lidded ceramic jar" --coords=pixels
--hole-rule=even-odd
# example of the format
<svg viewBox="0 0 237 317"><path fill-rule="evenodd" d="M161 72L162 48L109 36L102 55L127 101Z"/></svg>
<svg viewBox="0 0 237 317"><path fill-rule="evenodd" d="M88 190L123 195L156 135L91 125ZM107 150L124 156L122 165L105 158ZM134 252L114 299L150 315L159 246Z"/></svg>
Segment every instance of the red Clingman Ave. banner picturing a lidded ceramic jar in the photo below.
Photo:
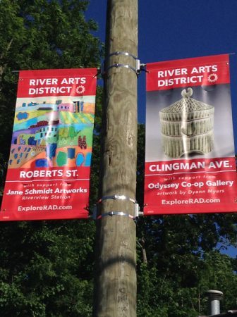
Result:
<svg viewBox="0 0 237 317"><path fill-rule="evenodd" d="M147 64L144 214L237 211L229 55Z"/></svg>

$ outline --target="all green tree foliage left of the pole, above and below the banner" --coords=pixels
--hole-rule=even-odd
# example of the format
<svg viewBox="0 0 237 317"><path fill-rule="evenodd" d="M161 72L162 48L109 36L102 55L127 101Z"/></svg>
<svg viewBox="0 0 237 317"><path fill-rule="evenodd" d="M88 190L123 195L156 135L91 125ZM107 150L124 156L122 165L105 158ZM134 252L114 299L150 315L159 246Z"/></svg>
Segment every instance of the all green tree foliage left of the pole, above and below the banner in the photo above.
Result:
<svg viewBox="0 0 237 317"><path fill-rule="evenodd" d="M14 70L99 66L102 45L90 34L97 25L85 20L86 8L81 0L0 1L1 190L16 104ZM91 316L92 220L1 223L0 235L1 316Z"/></svg>

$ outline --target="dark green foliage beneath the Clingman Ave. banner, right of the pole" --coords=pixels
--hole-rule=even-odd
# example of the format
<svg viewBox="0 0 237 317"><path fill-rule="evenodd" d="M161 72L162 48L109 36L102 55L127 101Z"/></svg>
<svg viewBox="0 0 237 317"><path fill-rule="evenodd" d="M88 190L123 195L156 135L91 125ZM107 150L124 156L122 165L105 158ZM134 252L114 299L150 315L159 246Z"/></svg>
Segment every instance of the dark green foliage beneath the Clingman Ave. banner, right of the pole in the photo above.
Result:
<svg viewBox="0 0 237 317"><path fill-rule="evenodd" d="M217 249L221 237L211 224L218 218L193 215L139 220L138 234L145 240L147 264L140 255L138 316L208 314L205 292L210 289L224 292L223 311L236 309L236 259ZM201 225L206 220L210 226L207 232ZM228 235L227 231L233 234L234 230L226 229Z"/></svg>

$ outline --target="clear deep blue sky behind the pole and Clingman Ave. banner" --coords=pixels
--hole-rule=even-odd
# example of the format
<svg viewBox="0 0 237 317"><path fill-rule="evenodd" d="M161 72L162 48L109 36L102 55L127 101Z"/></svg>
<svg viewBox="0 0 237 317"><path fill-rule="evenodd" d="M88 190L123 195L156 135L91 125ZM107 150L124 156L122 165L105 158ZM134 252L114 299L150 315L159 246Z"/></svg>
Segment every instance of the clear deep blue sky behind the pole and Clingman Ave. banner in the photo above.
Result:
<svg viewBox="0 0 237 317"><path fill-rule="evenodd" d="M90 0L86 18L105 41L107 0ZM237 0L138 0L141 63L230 54L233 131L237 151ZM145 123L145 73L138 77L138 121ZM223 251L237 256L236 248Z"/></svg>

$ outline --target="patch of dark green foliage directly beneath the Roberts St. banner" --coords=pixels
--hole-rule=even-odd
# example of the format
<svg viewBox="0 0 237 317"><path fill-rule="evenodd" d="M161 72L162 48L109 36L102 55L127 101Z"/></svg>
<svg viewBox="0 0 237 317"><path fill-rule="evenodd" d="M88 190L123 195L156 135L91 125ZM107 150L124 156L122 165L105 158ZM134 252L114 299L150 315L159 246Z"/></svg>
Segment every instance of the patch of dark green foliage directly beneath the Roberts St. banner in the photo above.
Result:
<svg viewBox="0 0 237 317"><path fill-rule="evenodd" d="M93 232L85 220L1 225L1 316L91 316Z"/></svg>

